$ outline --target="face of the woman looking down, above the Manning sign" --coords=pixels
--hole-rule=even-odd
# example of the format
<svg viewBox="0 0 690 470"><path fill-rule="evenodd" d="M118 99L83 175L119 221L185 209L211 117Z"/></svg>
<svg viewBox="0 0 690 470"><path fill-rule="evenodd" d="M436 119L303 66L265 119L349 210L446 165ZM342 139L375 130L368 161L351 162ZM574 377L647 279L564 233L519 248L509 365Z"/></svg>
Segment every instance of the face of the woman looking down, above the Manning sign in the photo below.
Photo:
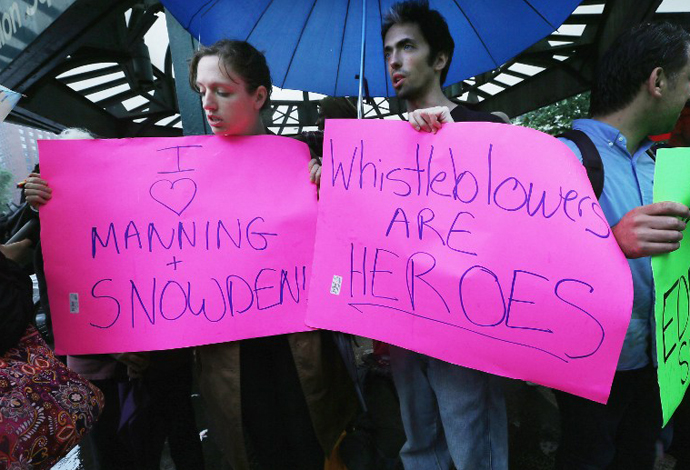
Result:
<svg viewBox="0 0 690 470"><path fill-rule="evenodd" d="M259 113L266 100L266 89L247 91L246 82L232 67L223 67L218 56L205 56L197 66L196 85L206 120L214 134L249 135L256 133Z"/></svg>

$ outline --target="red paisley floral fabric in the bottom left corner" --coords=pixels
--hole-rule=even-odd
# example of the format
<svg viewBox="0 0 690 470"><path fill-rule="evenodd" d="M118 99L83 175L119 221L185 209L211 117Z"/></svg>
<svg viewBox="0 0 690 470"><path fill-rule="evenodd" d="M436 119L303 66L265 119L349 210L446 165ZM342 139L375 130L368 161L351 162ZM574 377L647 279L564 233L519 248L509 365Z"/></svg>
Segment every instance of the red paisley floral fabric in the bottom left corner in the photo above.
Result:
<svg viewBox="0 0 690 470"><path fill-rule="evenodd" d="M91 429L103 394L60 362L33 327L0 356L0 468L48 469Z"/></svg>

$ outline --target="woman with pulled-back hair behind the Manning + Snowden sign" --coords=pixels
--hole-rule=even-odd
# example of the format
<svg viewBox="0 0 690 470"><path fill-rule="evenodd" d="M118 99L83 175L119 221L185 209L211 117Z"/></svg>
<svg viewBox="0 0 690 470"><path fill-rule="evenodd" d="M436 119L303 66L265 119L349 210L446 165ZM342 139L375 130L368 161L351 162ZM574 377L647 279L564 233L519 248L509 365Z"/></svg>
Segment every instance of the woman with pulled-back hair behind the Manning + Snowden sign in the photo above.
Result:
<svg viewBox="0 0 690 470"><path fill-rule="evenodd" d="M190 83L215 134L268 133L260 112L269 104L271 77L263 54L247 42L222 40L201 48L190 62ZM248 339L197 352L211 433L233 469L323 469L356 409L352 381L329 332Z"/></svg>

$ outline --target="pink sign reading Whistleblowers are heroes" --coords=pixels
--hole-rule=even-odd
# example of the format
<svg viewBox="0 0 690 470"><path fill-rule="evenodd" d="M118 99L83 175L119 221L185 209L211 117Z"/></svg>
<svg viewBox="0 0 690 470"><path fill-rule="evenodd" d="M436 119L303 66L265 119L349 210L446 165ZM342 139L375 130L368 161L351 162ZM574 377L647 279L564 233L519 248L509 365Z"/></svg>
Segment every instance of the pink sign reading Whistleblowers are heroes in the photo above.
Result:
<svg viewBox="0 0 690 470"><path fill-rule="evenodd" d="M556 139L329 121L317 226L308 325L607 400L632 281Z"/></svg>

